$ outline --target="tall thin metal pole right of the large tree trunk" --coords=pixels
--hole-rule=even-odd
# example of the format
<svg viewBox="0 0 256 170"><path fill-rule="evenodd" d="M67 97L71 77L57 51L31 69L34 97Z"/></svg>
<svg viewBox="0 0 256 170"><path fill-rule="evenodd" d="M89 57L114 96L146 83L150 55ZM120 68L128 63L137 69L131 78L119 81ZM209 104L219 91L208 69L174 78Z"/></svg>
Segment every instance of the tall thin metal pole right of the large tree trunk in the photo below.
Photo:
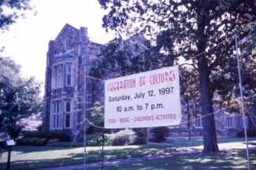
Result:
<svg viewBox="0 0 256 170"><path fill-rule="evenodd" d="M238 75L239 75L241 106L242 106L242 112L243 112L243 128L244 128L245 142L247 144L247 166L248 166L248 170L250 170L250 156L249 156L248 140L247 140L247 126L245 122L245 114L244 114L244 107L243 107L243 89L242 89L242 78L241 78L240 63L239 63L237 35L235 35L235 39L236 39L236 59L237 59L237 68L238 68Z"/></svg>

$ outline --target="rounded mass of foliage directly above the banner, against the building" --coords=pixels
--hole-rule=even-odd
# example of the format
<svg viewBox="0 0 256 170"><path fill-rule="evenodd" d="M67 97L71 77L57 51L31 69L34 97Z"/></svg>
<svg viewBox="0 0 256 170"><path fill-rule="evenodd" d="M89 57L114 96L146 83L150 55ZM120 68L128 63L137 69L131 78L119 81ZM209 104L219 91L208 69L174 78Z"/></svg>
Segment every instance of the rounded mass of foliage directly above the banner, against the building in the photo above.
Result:
<svg viewBox="0 0 256 170"><path fill-rule="evenodd" d="M114 39L103 45L99 54L101 60L92 68L91 75L97 78L111 78L154 70L161 67L161 54L141 35L128 40Z"/></svg>

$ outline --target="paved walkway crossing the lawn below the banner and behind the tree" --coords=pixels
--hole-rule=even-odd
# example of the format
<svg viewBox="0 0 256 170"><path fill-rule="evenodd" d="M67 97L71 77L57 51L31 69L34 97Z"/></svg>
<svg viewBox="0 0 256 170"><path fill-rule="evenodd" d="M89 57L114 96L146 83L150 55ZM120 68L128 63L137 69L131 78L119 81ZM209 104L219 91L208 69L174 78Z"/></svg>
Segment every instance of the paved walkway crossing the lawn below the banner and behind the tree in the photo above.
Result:
<svg viewBox="0 0 256 170"><path fill-rule="evenodd" d="M154 143L150 143L154 144ZM155 143L158 144L159 143ZM162 143L166 146L168 146L168 143ZM220 150L245 150L246 146L237 144L237 143L220 143L218 144ZM256 146L249 145L250 150L256 150ZM129 158L124 158L124 159L116 159L116 160L109 160L109 161L104 161L104 165L120 165L128 162L135 162L135 161L150 161L150 160L155 160L155 159L161 159L165 157L173 157L177 155L185 155L185 154L196 154L202 152L202 146L193 146L193 147L182 147L180 149L191 149L191 151L180 151L180 152L175 152L175 153L165 153L165 154L158 154L158 155L148 155L145 157L129 157ZM95 162L95 163L87 163L87 168L94 168L94 167L100 167L102 165L102 162ZM36 170L75 170L75 169L83 169L84 165L83 164L78 164L78 165L65 165L62 167L53 167L53 168L39 168Z"/></svg>

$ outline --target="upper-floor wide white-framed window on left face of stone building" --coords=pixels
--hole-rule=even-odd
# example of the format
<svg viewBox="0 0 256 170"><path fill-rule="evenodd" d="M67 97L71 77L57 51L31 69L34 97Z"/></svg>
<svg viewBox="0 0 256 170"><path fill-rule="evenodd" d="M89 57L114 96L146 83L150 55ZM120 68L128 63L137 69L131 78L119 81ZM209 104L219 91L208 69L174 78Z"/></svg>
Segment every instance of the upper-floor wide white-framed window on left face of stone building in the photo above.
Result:
<svg viewBox="0 0 256 170"><path fill-rule="evenodd" d="M53 67L53 81L52 81L52 87L53 88L61 88L62 87L62 81L63 81L63 66L62 64L58 66Z"/></svg>

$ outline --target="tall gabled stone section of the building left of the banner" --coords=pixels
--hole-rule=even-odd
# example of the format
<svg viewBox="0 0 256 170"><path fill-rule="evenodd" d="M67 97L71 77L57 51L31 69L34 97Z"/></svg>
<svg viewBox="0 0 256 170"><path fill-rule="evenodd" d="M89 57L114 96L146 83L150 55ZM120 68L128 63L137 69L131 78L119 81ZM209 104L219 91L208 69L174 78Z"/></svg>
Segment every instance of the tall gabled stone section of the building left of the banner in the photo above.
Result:
<svg viewBox="0 0 256 170"><path fill-rule="evenodd" d="M49 42L43 99L44 130L74 133L77 124L83 121L84 110L95 101L102 101L102 94L95 92L101 83L86 77L97 61L100 46L89 40L86 27L76 29L69 24Z"/></svg>

